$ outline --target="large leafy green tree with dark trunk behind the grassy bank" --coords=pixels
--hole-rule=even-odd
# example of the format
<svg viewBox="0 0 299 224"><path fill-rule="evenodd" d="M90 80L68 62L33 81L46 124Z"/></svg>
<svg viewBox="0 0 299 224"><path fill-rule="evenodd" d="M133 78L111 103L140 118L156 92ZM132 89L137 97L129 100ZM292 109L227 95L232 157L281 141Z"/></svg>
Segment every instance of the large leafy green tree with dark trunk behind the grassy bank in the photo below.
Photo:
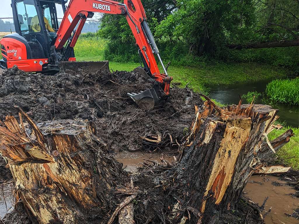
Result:
<svg viewBox="0 0 299 224"><path fill-rule="evenodd" d="M213 55L225 39L241 39L254 22L252 0L181 0L178 10L161 21L156 36L183 40L195 55ZM166 37L166 36L165 36Z"/></svg>

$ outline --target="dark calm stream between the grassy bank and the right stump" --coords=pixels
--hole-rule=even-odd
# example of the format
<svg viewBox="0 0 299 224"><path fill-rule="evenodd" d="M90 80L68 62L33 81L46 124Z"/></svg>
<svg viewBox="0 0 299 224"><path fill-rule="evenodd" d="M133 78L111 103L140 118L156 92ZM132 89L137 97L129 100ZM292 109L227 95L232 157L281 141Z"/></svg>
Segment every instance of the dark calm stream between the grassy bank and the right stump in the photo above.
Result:
<svg viewBox="0 0 299 224"><path fill-rule="evenodd" d="M242 96L250 91L257 91L258 93L264 93L266 86L272 80L263 80L259 82L248 82L248 83L238 83L231 85L214 85L209 86L210 95L212 99L216 99L222 104L238 104L239 95ZM279 109L278 116L280 116L280 121L286 122L285 126L292 126L298 128L299 126L299 107L298 105L288 105L283 103L271 102L270 99L266 98L264 93L265 101L262 102L261 99L255 100L256 104L268 104L274 109ZM247 102L243 102L247 103Z"/></svg>

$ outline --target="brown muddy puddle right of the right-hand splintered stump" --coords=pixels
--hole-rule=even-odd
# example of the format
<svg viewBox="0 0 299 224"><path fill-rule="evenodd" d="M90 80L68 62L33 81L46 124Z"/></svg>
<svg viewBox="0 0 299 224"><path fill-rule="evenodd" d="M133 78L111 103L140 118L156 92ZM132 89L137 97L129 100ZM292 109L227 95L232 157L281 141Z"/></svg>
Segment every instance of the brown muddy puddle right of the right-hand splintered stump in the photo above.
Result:
<svg viewBox="0 0 299 224"><path fill-rule="evenodd" d="M294 188L289 186L274 186L271 182L277 181L283 183L275 176L259 176L255 175L250 178L246 185L246 195L254 202L263 204L265 197L269 196L266 202L265 210L268 211L272 207L271 212L265 217L266 224L298 224L299 220L294 217L287 217L284 213L292 214L293 209L299 208L299 199L291 197L290 193L294 193ZM256 183L260 182L260 183Z"/></svg>

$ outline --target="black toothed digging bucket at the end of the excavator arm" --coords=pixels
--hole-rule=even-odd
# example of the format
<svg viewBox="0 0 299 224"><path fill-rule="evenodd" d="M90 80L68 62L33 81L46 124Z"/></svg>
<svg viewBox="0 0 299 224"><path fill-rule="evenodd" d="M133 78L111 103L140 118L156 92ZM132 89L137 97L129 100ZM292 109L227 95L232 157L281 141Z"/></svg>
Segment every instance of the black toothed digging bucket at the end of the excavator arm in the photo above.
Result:
<svg viewBox="0 0 299 224"><path fill-rule="evenodd" d="M155 90L147 89L140 93L127 93L128 96L143 110L150 111L159 104L158 96Z"/></svg>

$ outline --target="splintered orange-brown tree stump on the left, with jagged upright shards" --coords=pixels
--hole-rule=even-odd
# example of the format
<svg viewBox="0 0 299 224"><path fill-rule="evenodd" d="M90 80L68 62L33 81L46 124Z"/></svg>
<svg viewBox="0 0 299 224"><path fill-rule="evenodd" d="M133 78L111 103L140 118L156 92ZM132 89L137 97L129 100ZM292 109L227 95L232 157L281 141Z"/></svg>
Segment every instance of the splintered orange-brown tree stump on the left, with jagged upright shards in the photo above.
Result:
<svg viewBox="0 0 299 224"><path fill-rule="evenodd" d="M106 144L94 136L89 122L58 120L37 126L19 111L20 125L7 116L0 126L0 152L16 182L17 200L22 199L38 223L82 223L101 214L121 165L104 155Z"/></svg>

